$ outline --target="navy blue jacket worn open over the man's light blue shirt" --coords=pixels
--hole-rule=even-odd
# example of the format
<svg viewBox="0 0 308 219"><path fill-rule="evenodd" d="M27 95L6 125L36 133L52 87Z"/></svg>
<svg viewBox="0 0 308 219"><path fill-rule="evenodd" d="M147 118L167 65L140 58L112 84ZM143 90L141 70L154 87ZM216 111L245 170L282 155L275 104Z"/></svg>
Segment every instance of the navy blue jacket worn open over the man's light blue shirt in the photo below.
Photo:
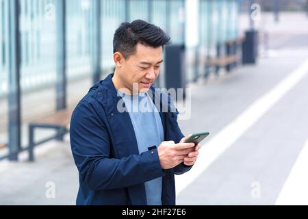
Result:
<svg viewBox="0 0 308 219"><path fill-rule="evenodd" d="M157 148L139 154L129 113L117 110L121 97L112 77L92 86L71 118L70 145L79 171L77 205L146 205L144 182L157 177L163 182L162 204L175 205L175 174L191 166L182 163L162 170ZM183 138L177 124L179 112L172 110L170 96L154 94L161 97L157 107L165 107L165 112L159 110L165 140L177 143Z"/></svg>

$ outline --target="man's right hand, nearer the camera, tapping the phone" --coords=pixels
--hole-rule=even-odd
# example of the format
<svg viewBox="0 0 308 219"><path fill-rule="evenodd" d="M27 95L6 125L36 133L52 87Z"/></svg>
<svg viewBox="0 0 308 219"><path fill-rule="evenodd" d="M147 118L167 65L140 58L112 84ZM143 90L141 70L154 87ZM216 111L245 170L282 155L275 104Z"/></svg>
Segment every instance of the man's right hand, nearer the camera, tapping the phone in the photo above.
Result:
<svg viewBox="0 0 308 219"><path fill-rule="evenodd" d="M188 153L194 151L194 143L162 142L157 151L160 165L166 170L181 164Z"/></svg>

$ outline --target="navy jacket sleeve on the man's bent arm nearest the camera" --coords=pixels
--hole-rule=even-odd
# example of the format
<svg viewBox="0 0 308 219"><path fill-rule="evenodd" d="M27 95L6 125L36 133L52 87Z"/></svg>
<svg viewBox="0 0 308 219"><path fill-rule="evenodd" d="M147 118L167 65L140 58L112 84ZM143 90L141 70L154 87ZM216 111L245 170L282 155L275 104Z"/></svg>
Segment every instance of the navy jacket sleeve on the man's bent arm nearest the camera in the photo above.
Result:
<svg viewBox="0 0 308 219"><path fill-rule="evenodd" d="M111 142L103 110L81 102L70 122L70 145L79 177L91 190L126 188L161 177L157 149L121 159L110 158Z"/></svg>

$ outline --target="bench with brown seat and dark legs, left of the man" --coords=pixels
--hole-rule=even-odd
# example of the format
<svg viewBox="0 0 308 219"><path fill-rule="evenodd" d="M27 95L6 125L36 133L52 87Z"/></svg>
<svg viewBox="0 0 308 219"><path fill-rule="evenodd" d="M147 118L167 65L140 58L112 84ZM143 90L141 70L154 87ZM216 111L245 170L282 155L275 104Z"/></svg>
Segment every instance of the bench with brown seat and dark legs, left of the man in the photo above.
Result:
<svg viewBox="0 0 308 219"><path fill-rule="evenodd" d="M70 116L73 110L64 109L29 123L29 161L34 161L34 146L52 139L63 140L64 134L68 132ZM40 142L34 142L35 129L55 129L57 134Z"/></svg>

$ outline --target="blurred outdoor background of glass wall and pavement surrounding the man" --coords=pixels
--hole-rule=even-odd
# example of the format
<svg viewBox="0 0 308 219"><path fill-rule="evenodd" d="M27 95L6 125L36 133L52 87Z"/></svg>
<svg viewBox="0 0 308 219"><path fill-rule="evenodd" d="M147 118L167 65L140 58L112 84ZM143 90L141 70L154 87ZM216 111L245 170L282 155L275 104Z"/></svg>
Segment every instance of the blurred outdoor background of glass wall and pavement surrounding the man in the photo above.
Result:
<svg viewBox="0 0 308 219"><path fill-rule="evenodd" d="M182 132L211 133L177 204L307 205L307 0L0 0L0 204L75 205L70 114L136 19L172 39L155 85L190 90Z"/></svg>

